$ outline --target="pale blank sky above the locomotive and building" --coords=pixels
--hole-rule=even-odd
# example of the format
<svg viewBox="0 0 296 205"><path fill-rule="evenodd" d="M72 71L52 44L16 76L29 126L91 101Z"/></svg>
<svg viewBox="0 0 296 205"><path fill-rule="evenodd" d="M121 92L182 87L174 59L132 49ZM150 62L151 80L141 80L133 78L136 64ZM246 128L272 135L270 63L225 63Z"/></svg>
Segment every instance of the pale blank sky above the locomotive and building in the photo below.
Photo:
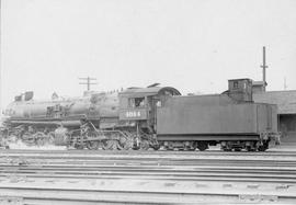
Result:
<svg viewBox="0 0 296 205"><path fill-rule="evenodd" d="M1 104L172 86L220 93L232 78L296 89L296 0L2 0Z"/></svg>

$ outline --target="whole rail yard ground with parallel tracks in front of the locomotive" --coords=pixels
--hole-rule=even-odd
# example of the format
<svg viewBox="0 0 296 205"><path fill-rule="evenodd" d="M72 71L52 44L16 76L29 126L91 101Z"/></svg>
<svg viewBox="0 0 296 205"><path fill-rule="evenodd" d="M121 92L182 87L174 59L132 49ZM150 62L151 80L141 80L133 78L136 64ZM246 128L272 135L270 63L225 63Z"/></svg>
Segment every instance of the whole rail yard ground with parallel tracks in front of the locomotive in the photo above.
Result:
<svg viewBox="0 0 296 205"><path fill-rule="evenodd" d="M2 149L0 166L0 204L296 204L296 144L265 152Z"/></svg>

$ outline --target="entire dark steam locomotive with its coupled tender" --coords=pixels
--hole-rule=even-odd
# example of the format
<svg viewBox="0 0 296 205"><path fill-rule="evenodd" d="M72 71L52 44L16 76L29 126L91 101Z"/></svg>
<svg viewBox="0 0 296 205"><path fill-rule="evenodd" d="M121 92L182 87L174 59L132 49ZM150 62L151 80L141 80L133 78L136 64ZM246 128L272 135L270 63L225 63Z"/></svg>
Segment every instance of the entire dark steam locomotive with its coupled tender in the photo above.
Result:
<svg viewBox="0 0 296 205"><path fill-rule="evenodd" d="M77 149L183 149L264 151L277 135L277 107L252 101L252 81L228 81L228 91L181 95L171 87L91 92L82 98L34 101L16 96L5 110L5 137Z"/></svg>

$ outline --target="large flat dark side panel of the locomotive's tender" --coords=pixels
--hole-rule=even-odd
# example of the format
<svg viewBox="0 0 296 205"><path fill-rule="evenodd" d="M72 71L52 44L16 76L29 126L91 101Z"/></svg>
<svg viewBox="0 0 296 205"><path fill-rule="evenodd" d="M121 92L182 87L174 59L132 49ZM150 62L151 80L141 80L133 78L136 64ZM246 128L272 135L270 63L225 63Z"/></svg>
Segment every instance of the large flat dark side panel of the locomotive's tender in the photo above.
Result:
<svg viewBox="0 0 296 205"><path fill-rule="evenodd" d="M258 134L257 106L254 104L196 104L198 101L192 96L186 100L172 98L170 101L173 102L169 102L169 106L158 107L158 135L230 136ZM196 103L191 101L196 101Z"/></svg>

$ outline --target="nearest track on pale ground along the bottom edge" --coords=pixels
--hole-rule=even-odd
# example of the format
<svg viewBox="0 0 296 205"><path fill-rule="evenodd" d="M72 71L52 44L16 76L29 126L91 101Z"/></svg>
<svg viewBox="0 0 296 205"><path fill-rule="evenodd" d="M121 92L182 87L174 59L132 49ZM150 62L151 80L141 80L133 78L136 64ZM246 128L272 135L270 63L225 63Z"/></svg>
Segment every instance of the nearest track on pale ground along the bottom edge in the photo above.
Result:
<svg viewBox="0 0 296 205"><path fill-rule="evenodd" d="M16 197L26 204L37 201L80 203L137 203L137 204L187 204L187 203L250 203L296 201L295 189L285 186L258 187L231 184L208 184L169 181L104 180L79 182L43 181L25 184L26 181L0 184L0 193ZM103 183L102 183L103 182ZM116 183L117 182L117 183ZM84 189L81 189L84 186ZM185 189L186 187L186 189ZM247 187L247 190L246 190ZM281 189L284 190L281 191ZM278 191L280 190L280 191ZM116 196L116 197L115 197Z"/></svg>

